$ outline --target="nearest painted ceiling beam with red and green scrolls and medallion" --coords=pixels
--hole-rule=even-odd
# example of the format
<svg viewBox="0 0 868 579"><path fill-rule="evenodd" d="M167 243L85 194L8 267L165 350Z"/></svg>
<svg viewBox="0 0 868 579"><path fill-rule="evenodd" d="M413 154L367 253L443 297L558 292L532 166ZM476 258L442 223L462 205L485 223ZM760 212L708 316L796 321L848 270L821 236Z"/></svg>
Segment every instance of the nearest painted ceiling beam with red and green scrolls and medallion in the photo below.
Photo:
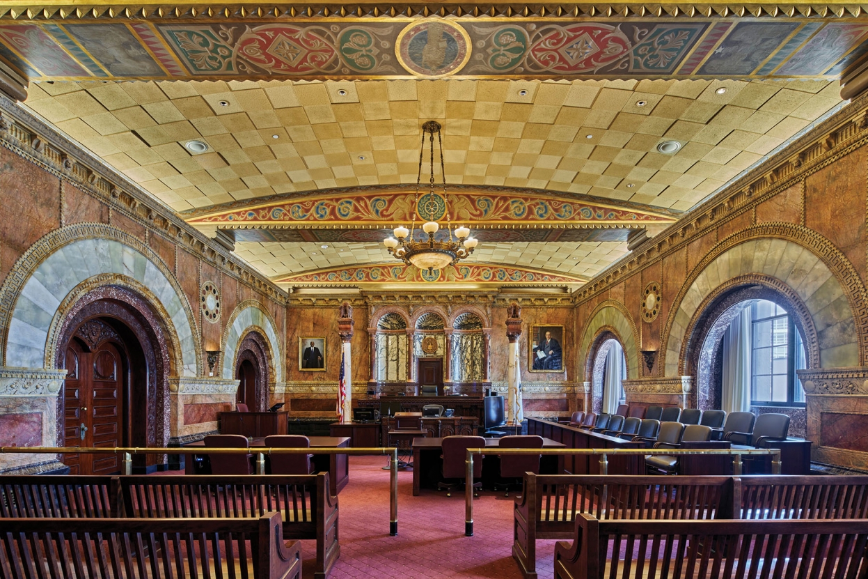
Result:
<svg viewBox="0 0 868 579"><path fill-rule="evenodd" d="M868 50L865 17L122 22L56 16L10 21L8 10L0 13L0 61L30 80L838 78Z"/></svg>

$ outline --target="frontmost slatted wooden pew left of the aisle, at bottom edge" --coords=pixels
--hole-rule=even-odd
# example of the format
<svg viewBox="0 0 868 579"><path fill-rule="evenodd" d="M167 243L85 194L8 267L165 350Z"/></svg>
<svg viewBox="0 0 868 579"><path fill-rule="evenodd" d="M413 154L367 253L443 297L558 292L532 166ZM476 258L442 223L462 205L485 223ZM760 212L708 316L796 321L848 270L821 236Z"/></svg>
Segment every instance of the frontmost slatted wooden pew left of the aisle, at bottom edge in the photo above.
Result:
<svg viewBox="0 0 868 579"><path fill-rule="evenodd" d="M8 518L0 577L300 579L299 541L279 513L259 518Z"/></svg>

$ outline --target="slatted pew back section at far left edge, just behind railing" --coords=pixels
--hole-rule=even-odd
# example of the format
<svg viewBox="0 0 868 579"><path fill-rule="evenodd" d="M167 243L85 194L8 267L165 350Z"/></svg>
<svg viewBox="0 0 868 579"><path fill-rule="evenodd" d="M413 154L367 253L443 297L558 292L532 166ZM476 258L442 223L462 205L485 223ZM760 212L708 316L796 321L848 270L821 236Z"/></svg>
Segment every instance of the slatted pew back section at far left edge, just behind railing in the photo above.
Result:
<svg viewBox="0 0 868 579"><path fill-rule="evenodd" d="M118 488L111 476L0 476L0 517L116 517Z"/></svg>

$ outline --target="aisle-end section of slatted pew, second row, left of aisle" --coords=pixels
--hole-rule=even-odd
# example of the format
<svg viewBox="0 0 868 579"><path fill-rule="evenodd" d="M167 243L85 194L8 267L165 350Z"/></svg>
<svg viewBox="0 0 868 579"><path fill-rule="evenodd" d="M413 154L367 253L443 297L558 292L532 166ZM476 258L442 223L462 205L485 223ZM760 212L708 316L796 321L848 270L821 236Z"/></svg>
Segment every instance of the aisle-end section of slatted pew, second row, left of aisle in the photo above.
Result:
<svg viewBox="0 0 868 579"><path fill-rule="evenodd" d="M315 539L314 577L325 579L340 556L338 497L328 473L253 476L122 476L126 516L249 517L277 511L284 539Z"/></svg>

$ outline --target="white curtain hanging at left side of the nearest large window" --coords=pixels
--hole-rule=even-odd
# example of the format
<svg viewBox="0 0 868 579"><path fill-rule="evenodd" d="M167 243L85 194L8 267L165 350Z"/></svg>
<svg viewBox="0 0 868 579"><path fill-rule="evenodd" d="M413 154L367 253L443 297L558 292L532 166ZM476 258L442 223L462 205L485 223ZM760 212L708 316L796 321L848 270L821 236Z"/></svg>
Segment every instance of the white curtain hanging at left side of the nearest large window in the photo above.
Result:
<svg viewBox="0 0 868 579"><path fill-rule="evenodd" d="M730 412L751 408L751 308L735 316L723 334L723 392L720 407Z"/></svg>

